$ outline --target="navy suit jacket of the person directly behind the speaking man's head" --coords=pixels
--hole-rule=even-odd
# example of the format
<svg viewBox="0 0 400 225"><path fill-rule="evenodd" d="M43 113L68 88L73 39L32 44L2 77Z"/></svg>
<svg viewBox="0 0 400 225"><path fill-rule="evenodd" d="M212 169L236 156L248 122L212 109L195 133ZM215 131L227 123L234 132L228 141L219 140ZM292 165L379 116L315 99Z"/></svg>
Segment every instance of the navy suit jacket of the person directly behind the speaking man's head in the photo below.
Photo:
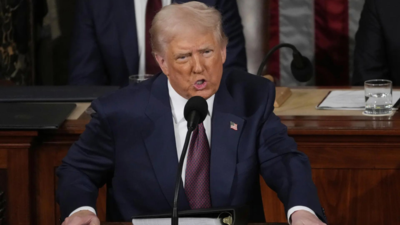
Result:
<svg viewBox="0 0 400 225"><path fill-rule="evenodd" d="M69 62L71 85L126 86L138 74L134 0L78 0ZM172 0L188 2L189 0ZM223 16L229 38L225 68L247 70L243 27L236 1L199 0Z"/></svg>

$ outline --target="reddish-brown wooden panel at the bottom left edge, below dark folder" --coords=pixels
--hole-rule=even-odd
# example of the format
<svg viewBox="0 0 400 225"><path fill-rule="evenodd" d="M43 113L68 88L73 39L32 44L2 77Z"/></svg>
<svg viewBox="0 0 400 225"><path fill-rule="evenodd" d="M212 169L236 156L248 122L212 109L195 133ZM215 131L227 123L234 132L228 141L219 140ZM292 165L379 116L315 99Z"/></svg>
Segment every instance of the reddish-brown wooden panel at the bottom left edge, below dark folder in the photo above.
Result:
<svg viewBox="0 0 400 225"><path fill-rule="evenodd" d="M6 190L8 224L32 222L31 143L36 135L36 131L0 131L0 188Z"/></svg>

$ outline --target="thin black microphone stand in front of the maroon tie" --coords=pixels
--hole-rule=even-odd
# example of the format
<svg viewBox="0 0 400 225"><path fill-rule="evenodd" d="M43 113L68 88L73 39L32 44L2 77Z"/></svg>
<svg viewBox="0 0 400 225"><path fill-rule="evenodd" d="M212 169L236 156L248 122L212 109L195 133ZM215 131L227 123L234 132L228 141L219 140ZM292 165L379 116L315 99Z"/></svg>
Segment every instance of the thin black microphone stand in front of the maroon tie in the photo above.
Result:
<svg viewBox="0 0 400 225"><path fill-rule="evenodd" d="M175 182L175 194L174 194L174 207L172 209L172 218L171 218L171 225L178 225L178 197L179 197L179 187L182 183L182 169L183 169L183 161L185 160L187 148L189 145L190 135L196 129L197 125L199 124L197 113L193 111L190 114L190 122L188 121L188 131L186 133L185 144L183 145L181 158L178 164L178 171L176 174L176 182Z"/></svg>

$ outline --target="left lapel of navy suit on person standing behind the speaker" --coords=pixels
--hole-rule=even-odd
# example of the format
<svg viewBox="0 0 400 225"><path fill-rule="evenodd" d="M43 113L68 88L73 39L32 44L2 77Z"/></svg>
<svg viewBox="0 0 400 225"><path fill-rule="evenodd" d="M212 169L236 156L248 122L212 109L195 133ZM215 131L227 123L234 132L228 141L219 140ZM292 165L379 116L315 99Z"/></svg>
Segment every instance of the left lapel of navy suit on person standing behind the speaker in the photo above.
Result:
<svg viewBox="0 0 400 225"><path fill-rule="evenodd" d="M121 49L129 74L139 72L139 47L133 0L113 1Z"/></svg>

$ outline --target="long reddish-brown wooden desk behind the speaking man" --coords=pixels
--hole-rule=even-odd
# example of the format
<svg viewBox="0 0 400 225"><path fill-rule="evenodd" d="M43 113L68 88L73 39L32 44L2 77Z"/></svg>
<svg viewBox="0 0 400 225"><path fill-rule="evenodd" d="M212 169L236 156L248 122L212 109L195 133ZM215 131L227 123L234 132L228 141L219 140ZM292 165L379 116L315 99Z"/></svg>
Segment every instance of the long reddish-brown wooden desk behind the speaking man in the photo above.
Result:
<svg viewBox="0 0 400 225"><path fill-rule="evenodd" d="M312 101L324 97L318 94L321 90L328 91L293 89L293 96L276 113L298 149L310 158L329 224L400 224L399 113L392 117L314 114ZM301 95L320 99L294 99ZM89 120L84 114L66 121L57 131L0 131L0 187L7 183L3 186L10 224L58 224L55 169ZM30 167L34 168L31 173ZM285 222L276 195L262 186L267 221ZM104 191L97 208L101 219L105 218ZM25 198L28 193L33 193L32 199Z"/></svg>

